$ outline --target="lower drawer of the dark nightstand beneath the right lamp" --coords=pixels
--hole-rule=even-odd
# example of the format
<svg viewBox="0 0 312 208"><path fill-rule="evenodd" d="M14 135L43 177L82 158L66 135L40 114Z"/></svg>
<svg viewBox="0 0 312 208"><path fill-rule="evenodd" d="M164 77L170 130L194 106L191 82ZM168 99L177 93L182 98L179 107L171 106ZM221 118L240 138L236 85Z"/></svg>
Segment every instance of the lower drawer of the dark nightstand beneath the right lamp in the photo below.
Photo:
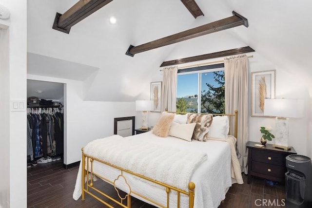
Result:
<svg viewBox="0 0 312 208"><path fill-rule="evenodd" d="M283 178L286 172L286 168L285 166L282 167L282 166L252 161L252 171L260 173L260 174L274 176L277 178Z"/></svg>

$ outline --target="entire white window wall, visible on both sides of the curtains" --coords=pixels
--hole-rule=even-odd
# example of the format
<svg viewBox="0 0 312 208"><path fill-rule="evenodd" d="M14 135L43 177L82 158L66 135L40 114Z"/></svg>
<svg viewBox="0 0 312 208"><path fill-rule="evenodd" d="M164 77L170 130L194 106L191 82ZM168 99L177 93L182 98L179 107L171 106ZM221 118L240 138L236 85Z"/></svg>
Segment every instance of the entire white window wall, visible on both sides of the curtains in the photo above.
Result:
<svg viewBox="0 0 312 208"><path fill-rule="evenodd" d="M308 106L310 105L310 111L312 112L311 107L311 98L309 95L309 89L308 89L308 83L302 82L302 76L300 74L293 73L293 71L285 70L283 68L276 67L272 62L268 61L265 57L262 57L260 54L254 52L249 53L248 55L254 55L254 57L249 58L249 99L248 99L248 106L246 106L249 109L249 115L250 109L251 109L251 103L250 103L250 97L251 97L251 72L256 71L267 71L267 70L276 70L276 98L298 98L298 99L304 99L305 100L305 109L304 114L305 117L303 118L296 118L292 119L290 118L290 126L289 126L289 145L293 146L294 149L299 154L308 154L311 156L311 147L312 147L312 130L310 130L310 133L308 131L308 125L310 125L309 129L312 129L312 121L310 117L307 116L308 114ZM214 60L220 60L222 58L216 58L209 61ZM191 64L197 64L201 62L207 62L207 60L204 61L198 61L196 63ZM184 65L190 65L184 64ZM182 65L181 65L182 66ZM162 73L159 72L158 69L153 69L152 71L152 81L161 81L162 80ZM312 89L312 88L311 88ZM312 91L311 91L312 92ZM312 113L310 113L312 114ZM159 113L149 113L149 126L153 126L157 119L159 117ZM308 121L310 122L308 124ZM267 118L267 117L252 117L249 116L249 140L259 142L261 138L261 132L260 127L270 125L274 127L275 125L275 118ZM274 134L274 130L272 131ZM308 136L308 135L309 136ZM308 138L308 139L307 139ZM274 143L268 142L268 143ZM302 144L307 144L302 145ZM308 148L309 147L309 148ZM308 152L307 152L308 151Z"/></svg>

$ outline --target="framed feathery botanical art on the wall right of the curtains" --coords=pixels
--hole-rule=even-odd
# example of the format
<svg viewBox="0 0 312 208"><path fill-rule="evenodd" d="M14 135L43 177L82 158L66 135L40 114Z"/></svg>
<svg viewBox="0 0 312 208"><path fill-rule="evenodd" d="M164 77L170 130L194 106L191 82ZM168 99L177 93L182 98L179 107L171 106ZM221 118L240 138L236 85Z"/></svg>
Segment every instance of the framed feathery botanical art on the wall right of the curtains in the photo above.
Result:
<svg viewBox="0 0 312 208"><path fill-rule="evenodd" d="M275 70L251 73L251 116L264 116L264 99L275 98Z"/></svg>

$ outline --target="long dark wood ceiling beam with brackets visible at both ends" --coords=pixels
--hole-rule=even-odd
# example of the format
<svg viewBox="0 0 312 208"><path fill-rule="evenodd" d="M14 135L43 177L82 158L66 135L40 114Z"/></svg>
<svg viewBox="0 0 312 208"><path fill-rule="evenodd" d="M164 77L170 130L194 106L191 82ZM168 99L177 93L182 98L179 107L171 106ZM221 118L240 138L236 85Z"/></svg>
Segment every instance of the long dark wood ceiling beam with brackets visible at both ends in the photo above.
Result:
<svg viewBox="0 0 312 208"><path fill-rule="evenodd" d="M240 25L245 25L246 27L248 27L248 20L233 11L233 16L229 18L220 19L215 22L211 22L211 23L199 26L199 27L195 27L190 30L176 33L171 36L167 36L165 38L153 40L151 42L144 43L142 45L138 45L138 46L130 45L126 52L126 55L133 57L135 54L138 54L144 51L149 51L155 48L181 42L183 40L188 40L191 38L196 38L196 37L207 35L210 33L215 33L218 31L230 29L230 28L237 27Z"/></svg>

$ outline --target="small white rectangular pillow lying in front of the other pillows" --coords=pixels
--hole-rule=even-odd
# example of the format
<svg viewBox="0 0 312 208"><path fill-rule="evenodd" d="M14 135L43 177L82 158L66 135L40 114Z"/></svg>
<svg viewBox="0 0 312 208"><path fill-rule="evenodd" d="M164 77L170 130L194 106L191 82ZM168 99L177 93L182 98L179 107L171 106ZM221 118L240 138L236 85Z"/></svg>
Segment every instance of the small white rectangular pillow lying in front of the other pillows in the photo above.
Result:
<svg viewBox="0 0 312 208"><path fill-rule="evenodd" d="M195 126L196 123L178 124L176 122L172 122L169 130L169 136L175 136L191 142Z"/></svg>

